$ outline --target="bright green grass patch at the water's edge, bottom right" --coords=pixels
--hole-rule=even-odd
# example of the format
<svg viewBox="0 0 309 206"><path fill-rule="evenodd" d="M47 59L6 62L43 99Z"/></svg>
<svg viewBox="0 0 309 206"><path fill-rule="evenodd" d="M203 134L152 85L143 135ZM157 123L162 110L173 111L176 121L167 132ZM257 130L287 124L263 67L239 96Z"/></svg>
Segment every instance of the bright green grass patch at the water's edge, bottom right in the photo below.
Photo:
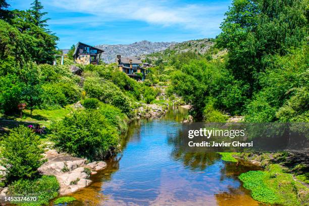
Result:
<svg viewBox="0 0 309 206"><path fill-rule="evenodd" d="M261 202L282 205L304 205L308 202L308 188L284 173L280 165L271 164L265 171L249 171L239 176L251 196Z"/></svg>

